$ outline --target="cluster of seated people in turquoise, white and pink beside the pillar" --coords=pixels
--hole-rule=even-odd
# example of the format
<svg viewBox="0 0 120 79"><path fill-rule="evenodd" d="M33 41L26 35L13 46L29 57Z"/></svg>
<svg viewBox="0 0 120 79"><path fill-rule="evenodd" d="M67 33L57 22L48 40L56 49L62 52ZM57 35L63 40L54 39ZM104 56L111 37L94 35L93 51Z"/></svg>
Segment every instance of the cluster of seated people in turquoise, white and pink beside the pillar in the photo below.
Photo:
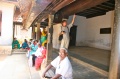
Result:
<svg viewBox="0 0 120 79"><path fill-rule="evenodd" d="M27 57L29 59L29 65L35 66L36 70L40 69L41 63L46 58L46 52L47 52L46 45L47 43L44 44L44 46L42 46L40 43L38 43L37 40L34 40L31 42L29 46L27 53Z"/></svg>

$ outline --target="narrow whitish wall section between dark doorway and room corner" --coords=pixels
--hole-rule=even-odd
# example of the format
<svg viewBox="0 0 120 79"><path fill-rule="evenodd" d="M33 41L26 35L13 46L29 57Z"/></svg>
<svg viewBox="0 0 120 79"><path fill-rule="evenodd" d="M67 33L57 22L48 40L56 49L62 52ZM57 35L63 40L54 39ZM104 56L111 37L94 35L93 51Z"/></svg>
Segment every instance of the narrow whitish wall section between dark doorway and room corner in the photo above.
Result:
<svg viewBox="0 0 120 79"><path fill-rule="evenodd" d="M69 17L68 23L72 20L72 16ZM86 18L77 16L74 25L77 25L76 46L85 46L84 40L86 39Z"/></svg>

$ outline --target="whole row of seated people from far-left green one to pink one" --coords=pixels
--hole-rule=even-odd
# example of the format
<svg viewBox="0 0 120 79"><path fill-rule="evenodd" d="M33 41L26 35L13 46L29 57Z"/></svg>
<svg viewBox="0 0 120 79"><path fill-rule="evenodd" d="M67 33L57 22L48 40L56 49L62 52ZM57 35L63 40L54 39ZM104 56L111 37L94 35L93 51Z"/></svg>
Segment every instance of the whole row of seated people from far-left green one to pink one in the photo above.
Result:
<svg viewBox="0 0 120 79"><path fill-rule="evenodd" d="M47 51L46 46L47 43L42 45L38 43L37 40L32 40L32 39L30 39L29 42L26 39L24 39L24 42L22 43L21 47L16 38L14 38L12 43L13 49L22 48L28 50L27 57L29 59L29 64L30 66L35 66L36 70L40 69L41 63L46 58L46 51Z"/></svg>

